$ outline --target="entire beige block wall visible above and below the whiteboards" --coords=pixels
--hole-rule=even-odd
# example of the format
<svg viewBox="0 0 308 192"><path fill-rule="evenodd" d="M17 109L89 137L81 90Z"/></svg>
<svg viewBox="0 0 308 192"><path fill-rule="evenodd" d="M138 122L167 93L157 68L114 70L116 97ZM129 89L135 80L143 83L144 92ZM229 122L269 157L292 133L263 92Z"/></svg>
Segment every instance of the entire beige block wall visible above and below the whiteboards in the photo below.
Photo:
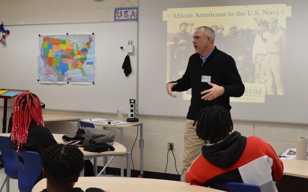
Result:
<svg viewBox="0 0 308 192"><path fill-rule="evenodd" d="M6 26L19 24L113 21L114 8L119 8L121 5L121 7L138 6L138 0L87 0L86 4L84 4L83 0L0 0L0 5L0 20L4 18L4 25ZM12 31L12 33L13 32L14 31ZM6 88L3 82L1 83L1 87ZM115 106L115 111L117 107L118 106ZM188 109L183 110L187 111ZM9 108L7 113L8 116L10 116L11 112L12 108ZM47 110L44 110L44 112L51 114L70 114L78 116L80 119L98 117L116 119L115 115L110 114ZM3 108L0 108L1 119L2 116ZM127 115L124 115L124 119L127 117ZM140 121L144 121L144 170L164 173L167 163L167 142L173 142L176 167L180 173L182 170L181 161L184 150L183 133L186 120L184 118L149 116L138 116L138 118ZM54 122L45 124L52 133L67 133L74 131L76 125L76 122ZM120 142L120 131L114 128L110 128L109 130L116 133L116 141ZM128 151L132 150L132 145L136 138L136 130L137 128L134 127L124 131L124 143ZM270 143L278 154L282 153L288 147L295 147L297 137L308 136L307 125L295 124L235 121L234 130L241 132L241 134L246 137L260 137L264 141ZM135 170L140 170L139 134L132 151L132 157ZM111 167L120 167L119 160L119 158L115 158L111 163ZM102 165L102 159L99 159L99 165ZM166 172L177 174L172 153L169 153Z"/></svg>

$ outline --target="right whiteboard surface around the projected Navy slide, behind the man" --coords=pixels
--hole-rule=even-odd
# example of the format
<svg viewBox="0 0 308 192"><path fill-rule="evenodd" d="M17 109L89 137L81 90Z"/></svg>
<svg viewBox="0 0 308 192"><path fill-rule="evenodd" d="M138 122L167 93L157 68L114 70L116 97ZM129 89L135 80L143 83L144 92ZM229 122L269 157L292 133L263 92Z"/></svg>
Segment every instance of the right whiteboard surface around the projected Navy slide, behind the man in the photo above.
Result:
<svg viewBox="0 0 308 192"><path fill-rule="evenodd" d="M271 4L271 6L269 4ZM225 27L225 35L227 35L229 26L231 26L230 24L234 22L238 29L240 27L250 27L254 32L257 32L258 29L255 19L265 17L262 15L265 15L265 12L269 13L267 10L271 10L273 7L275 8L273 4L285 4L283 7L287 8L287 6L291 6L292 10L292 14L285 17L284 20L278 18L279 27L282 27L281 29L286 33L286 62L284 66L285 94L282 96L277 94L265 95L265 102L260 103L230 102L232 107L231 115L234 120L242 121L308 124L306 113L308 106L308 101L306 99L308 94L308 67L307 59L305 58L307 55L306 45L308 44L308 39L306 38L306 31L308 31L308 26L302 24L302 19L307 18L305 7L308 6L308 1L140 0L140 91L138 94L138 112L140 114L153 116L186 117L187 115L190 100L184 100L182 92L173 92L173 94L177 95L177 98L173 98L169 96L166 91L166 84L171 81L170 78L168 79L168 59L170 60L168 54L171 55L170 52L168 53L168 50L170 49L172 35L179 31L181 23L194 22L198 25L200 24L200 26L205 25L209 27L213 23L217 23L218 25L223 24ZM223 6L223 9L217 8L221 6ZM277 7L279 6L281 5ZM209 11L202 12L202 10L199 9L200 7L209 7ZM212 14L218 12L222 14L225 13L226 16L228 16L229 12L234 12L234 16L236 16L238 10L244 10L246 8L248 8L249 14L252 14L254 7L260 7L262 11L259 11L258 13L260 15L256 15L255 18L249 18L251 19L249 23L240 22L241 20L237 20L237 18L214 18ZM279 14L286 14L284 13L284 11L286 11L285 8L279 10ZM168 9L172 9L172 11L168 13ZM163 12L167 12L167 17L169 14L169 18L175 18L172 20L174 23L174 31L168 28L173 26L169 25L169 20L164 20ZM196 14L196 12L198 14ZM256 12L253 12L253 14L255 13ZM191 16L193 18L191 18ZM267 15L266 18L270 19L273 16L274 15ZM202 18L202 22L200 22L200 17L204 17ZM191 42L192 41L193 39L191 39ZM193 46L191 42L189 43ZM217 48L220 49L220 47ZM249 92L250 88L245 87L245 89L245 92Z"/></svg>

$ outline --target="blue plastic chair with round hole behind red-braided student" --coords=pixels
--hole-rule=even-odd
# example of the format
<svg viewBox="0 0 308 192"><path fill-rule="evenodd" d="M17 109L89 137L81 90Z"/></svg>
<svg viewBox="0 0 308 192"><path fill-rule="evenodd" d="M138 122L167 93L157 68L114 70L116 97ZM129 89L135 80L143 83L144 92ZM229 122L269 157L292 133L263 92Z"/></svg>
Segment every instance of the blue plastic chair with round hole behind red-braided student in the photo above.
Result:
<svg viewBox="0 0 308 192"><path fill-rule="evenodd" d="M18 189L31 191L42 172L41 157L39 153L32 151L12 151L18 166Z"/></svg>

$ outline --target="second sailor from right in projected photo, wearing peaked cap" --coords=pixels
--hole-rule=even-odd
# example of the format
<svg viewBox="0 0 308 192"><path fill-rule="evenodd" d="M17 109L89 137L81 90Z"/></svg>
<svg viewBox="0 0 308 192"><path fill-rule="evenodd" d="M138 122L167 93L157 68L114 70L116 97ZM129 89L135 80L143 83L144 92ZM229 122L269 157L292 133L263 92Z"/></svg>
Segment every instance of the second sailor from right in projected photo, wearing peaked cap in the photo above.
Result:
<svg viewBox="0 0 308 192"><path fill-rule="evenodd" d="M259 32L256 34L252 49L252 61L255 65L255 83L266 83L265 59L267 55L267 42L271 37L270 32L266 31L267 24L266 19L257 20Z"/></svg>

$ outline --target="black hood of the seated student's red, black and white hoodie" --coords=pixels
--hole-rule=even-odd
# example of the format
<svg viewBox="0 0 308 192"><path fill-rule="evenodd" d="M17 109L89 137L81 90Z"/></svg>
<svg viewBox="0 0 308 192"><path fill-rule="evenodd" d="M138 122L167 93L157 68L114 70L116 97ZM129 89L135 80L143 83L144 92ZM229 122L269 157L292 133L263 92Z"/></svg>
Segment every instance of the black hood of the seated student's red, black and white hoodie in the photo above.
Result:
<svg viewBox="0 0 308 192"><path fill-rule="evenodd" d="M242 155L247 138L241 136L241 133L234 131L223 141L214 145L203 145L202 155L211 164L228 168L233 165Z"/></svg>

